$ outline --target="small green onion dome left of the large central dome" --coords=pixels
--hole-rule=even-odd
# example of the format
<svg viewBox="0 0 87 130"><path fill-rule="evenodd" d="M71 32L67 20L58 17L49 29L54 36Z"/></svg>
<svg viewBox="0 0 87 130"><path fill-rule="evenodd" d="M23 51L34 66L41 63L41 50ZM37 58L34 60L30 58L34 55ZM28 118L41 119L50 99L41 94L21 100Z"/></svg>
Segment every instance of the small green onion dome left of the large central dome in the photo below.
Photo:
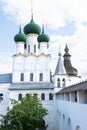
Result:
<svg viewBox="0 0 87 130"><path fill-rule="evenodd" d="M19 29L19 33L17 35L15 35L15 37L14 37L14 41L15 42L26 42L26 36L25 36L25 34L23 34L21 32L21 26Z"/></svg>

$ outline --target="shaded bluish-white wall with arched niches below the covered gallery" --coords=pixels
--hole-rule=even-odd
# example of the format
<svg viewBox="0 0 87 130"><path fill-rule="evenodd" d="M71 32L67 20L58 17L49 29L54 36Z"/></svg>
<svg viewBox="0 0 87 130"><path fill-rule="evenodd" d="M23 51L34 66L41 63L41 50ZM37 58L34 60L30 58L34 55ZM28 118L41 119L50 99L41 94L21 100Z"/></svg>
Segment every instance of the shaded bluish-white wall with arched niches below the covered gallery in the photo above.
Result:
<svg viewBox="0 0 87 130"><path fill-rule="evenodd" d="M87 130L87 105L86 104L57 100L57 110L61 113L60 120L62 120L64 115L65 121L63 123L62 120L62 122L60 123L61 128L56 130L68 130L69 119L71 121L70 130L76 130L76 126L79 126L80 130ZM62 127L63 124L64 124L64 128Z"/></svg>

